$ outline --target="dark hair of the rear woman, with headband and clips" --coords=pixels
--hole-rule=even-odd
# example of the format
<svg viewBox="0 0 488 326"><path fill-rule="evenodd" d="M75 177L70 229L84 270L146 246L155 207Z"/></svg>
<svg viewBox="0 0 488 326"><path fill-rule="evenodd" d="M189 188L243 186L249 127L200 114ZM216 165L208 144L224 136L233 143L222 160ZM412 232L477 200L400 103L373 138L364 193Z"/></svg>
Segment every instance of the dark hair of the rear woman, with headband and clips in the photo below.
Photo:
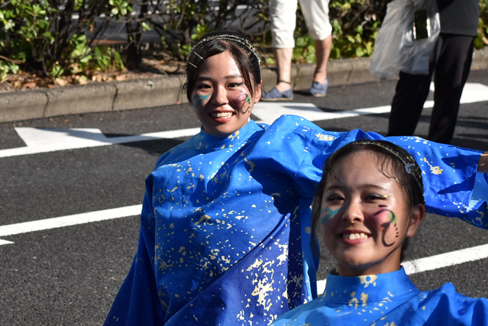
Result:
<svg viewBox="0 0 488 326"><path fill-rule="evenodd" d="M186 63L186 82L183 91L191 103L191 93L195 87L198 69L205 59L215 54L229 51L241 72L244 84L254 96L254 86L261 83L259 54L241 33L236 31L215 31L202 36L193 47Z"/></svg>

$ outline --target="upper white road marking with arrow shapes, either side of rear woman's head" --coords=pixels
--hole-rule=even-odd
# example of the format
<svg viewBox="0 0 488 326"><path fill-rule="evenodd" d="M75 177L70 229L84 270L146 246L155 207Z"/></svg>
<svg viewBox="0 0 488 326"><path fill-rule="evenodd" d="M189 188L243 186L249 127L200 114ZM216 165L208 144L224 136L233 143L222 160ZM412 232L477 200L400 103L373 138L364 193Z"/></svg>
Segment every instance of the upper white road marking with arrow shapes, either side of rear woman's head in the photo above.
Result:
<svg viewBox="0 0 488 326"><path fill-rule="evenodd" d="M433 86L431 86L433 88ZM488 86L468 83L464 86L461 103L488 101ZM434 101L426 101L424 107L433 107ZM365 114L383 114L390 111L390 105L369 107L348 111L324 112L312 103L295 102L259 102L253 114L264 123L273 123L283 114L303 116L309 121L321 121L339 118L351 118ZM56 150L68 150L96 146L108 146L115 143L130 143L134 141L148 141L154 139L171 139L191 137L200 128L170 130L166 132L152 132L137 136L123 136L108 138L98 129L41 129L31 127L16 127L15 131L22 138L26 147L8 148L0 150L0 157L47 153Z"/></svg>

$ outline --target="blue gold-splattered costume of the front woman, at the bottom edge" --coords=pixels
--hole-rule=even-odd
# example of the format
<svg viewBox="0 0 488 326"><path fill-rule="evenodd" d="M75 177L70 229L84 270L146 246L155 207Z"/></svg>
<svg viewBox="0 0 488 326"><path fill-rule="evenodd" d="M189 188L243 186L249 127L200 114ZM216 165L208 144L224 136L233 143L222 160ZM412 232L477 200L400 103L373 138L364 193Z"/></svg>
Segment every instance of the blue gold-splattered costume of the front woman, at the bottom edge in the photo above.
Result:
<svg viewBox="0 0 488 326"><path fill-rule="evenodd" d="M488 325L488 300L456 292L451 283L420 292L403 267L385 274L328 274L321 297L281 316L273 326Z"/></svg>

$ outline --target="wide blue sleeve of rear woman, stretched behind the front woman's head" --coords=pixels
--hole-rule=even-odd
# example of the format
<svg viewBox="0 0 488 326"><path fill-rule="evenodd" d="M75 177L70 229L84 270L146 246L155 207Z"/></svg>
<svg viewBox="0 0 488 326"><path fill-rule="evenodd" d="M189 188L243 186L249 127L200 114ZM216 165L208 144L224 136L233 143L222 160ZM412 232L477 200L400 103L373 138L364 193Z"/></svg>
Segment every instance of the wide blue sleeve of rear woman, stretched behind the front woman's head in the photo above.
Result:
<svg viewBox="0 0 488 326"><path fill-rule="evenodd" d="M273 137L287 130L288 137ZM262 141L269 139L268 141ZM295 141L289 141L295 139ZM327 157L338 148L359 139L379 139L397 144L409 152L422 169L424 196L427 212L445 217L457 217L474 226L488 228L488 194L473 194L475 181L488 183L487 174L476 173L481 151L434 143L420 137L383 137L375 132L351 130L350 132L327 132L296 116L282 116L261 137L259 149L266 150L275 164L300 158L300 168L294 178L297 192L313 196L322 176L322 166ZM268 142L273 146L266 146ZM297 148L297 142L300 147ZM296 155L305 151L307 155ZM270 168L271 169L271 168Z"/></svg>

